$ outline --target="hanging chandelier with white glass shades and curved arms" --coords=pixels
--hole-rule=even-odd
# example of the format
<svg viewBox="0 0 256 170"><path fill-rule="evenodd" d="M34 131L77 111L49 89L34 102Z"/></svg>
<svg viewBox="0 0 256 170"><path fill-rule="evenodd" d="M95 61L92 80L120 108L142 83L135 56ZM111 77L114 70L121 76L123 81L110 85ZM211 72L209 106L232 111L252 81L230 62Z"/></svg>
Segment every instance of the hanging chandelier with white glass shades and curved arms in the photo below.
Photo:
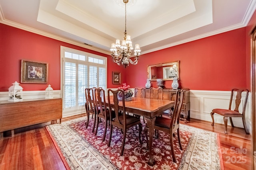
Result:
<svg viewBox="0 0 256 170"><path fill-rule="evenodd" d="M127 35L126 32L126 4L128 3L128 0L123 0L125 4L125 31L124 31L124 39L122 40L122 43L120 44L120 40L117 39L116 43L112 43L110 51L112 51L112 60L114 63L118 64L119 66L122 64L124 68L126 66L129 66L129 64L137 64L138 59L140 56L140 45L136 44L134 49L134 55L135 60L132 61L130 59L133 47L132 47L132 41L131 36Z"/></svg>

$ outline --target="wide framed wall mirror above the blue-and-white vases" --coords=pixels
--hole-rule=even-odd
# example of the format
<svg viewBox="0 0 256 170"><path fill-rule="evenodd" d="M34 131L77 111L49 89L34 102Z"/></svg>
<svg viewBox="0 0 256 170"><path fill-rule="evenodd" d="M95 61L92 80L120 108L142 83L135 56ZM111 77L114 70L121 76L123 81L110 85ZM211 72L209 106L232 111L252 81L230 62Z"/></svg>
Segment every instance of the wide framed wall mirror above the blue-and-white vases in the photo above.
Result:
<svg viewBox="0 0 256 170"><path fill-rule="evenodd" d="M180 80L180 61L148 66L148 78L151 81L156 81L158 78L173 80L175 76Z"/></svg>

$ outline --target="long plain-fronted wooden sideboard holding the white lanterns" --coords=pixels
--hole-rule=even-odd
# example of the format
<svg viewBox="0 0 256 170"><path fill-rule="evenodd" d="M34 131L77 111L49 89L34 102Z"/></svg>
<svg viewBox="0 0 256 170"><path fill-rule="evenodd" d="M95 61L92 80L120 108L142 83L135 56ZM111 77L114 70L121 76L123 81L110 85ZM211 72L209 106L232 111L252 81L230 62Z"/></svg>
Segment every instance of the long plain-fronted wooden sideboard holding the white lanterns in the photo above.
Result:
<svg viewBox="0 0 256 170"><path fill-rule="evenodd" d="M14 129L62 119L61 98L37 98L19 102L0 102L0 139L3 132Z"/></svg>

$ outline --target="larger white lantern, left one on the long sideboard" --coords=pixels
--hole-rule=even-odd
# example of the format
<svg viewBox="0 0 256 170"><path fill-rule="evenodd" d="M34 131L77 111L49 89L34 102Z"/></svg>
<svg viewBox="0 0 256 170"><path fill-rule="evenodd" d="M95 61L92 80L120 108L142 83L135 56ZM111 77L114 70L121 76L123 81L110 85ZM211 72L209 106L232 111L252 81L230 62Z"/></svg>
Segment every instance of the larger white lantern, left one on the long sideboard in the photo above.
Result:
<svg viewBox="0 0 256 170"><path fill-rule="evenodd" d="M11 102L22 101L22 90L23 88L19 85L20 83L14 82L13 85L8 88L9 90L9 100Z"/></svg>

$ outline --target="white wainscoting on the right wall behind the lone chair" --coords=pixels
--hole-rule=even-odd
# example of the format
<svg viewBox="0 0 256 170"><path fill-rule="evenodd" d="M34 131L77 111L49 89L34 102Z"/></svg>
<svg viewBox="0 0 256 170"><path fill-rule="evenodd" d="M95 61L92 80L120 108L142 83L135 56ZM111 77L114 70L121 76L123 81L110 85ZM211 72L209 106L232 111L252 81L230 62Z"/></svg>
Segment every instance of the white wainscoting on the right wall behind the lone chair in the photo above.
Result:
<svg viewBox="0 0 256 170"><path fill-rule="evenodd" d="M194 119L200 119L209 121L212 123L212 117L210 115L212 109L228 109L230 101L231 91L208 91L208 90L190 90L190 117ZM245 95L242 94L241 104L239 111L242 112L242 106L244 105ZM235 95L233 100L235 100ZM233 101L234 103L234 101ZM234 109L232 104L232 109ZM242 118L233 117L233 124L235 127L244 127ZM214 122L224 124L223 116L214 114ZM228 125L230 121L228 120ZM251 133L252 121L251 121L251 93L249 93L247 105L246 105L246 127Z"/></svg>

